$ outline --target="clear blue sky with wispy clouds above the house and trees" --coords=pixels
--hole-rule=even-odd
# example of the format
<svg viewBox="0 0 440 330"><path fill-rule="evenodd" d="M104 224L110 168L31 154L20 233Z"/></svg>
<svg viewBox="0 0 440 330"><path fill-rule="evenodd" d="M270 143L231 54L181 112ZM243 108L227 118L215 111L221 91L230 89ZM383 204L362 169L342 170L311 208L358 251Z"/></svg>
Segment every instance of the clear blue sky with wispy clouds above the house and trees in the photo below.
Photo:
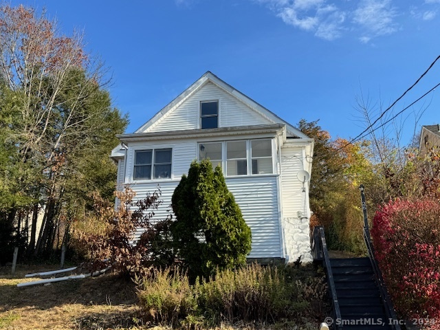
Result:
<svg viewBox="0 0 440 330"><path fill-rule="evenodd" d="M440 0L41 0L11 1L83 30L87 51L109 67L116 107L135 131L206 71L287 122L320 120L332 137L366 126L440 55ZM440 61L394 113L440 83ZM440 87L404 111L408 142L440 123ZM391 115L392 111L388 111ZM393 135L393 126L386 134Z"/></svg>

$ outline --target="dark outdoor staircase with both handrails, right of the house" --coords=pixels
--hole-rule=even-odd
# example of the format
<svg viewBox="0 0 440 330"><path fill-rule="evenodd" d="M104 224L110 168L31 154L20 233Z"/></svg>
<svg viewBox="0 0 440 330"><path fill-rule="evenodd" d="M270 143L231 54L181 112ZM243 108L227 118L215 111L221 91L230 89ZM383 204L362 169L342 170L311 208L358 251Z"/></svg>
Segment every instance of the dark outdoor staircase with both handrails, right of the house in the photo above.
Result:
<svg viewBox="0 0 440 330"><path fill-rule="evenodd" d="M400 322L374 259L363 186L361 197L367 257L330 259L324 228L314 228L311 250L314 260L325 267L333 307L333 315L327 320L338 330L400 330Z"/></svg>

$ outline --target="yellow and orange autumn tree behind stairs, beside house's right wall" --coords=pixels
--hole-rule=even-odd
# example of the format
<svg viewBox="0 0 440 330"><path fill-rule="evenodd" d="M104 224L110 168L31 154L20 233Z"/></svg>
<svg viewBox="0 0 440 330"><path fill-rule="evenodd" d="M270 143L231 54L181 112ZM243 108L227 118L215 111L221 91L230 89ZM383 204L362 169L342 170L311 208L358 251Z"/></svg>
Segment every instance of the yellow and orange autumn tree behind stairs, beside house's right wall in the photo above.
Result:
<svg viewBox="0 0 440 330"><path fill-rule="evenodd" d="M364 157L368 143L332 140L318 121L300 120L298 129L315 140L309 192L314 212L311 223L325 226L329 248L363 252L358 187L373 175L369 159Z"/></svg>

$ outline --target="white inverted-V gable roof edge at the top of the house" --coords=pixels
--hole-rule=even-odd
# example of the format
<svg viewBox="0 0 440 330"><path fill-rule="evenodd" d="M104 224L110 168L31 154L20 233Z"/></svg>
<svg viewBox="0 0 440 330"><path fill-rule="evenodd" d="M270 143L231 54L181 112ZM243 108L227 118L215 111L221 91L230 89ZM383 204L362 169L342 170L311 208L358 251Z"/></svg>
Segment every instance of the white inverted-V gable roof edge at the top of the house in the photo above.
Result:
<svg viewBox="0 0 440 330"><path fill-rule="evenodd" d="M191 95L195 94L196 91L198 91L203 85L206 85L207 83L212 83L225 91L226 93L230 94L237 100L243 102L246 104L250 109L253 111L256 111L256 113L259 113L259 115L262 115L267 120L270 120L270 122L273 123L283 123L286 125L286 130L289 135L292 135L294 137L300 137L300 138L308 138L307 135L305 135L300 130L296 129L294 126L286 122L285 120L281 119L273 113L272 111L266 109L258 102L255 102L252 100L252 98L249 98L248 96L245 96L245 94L241 93L240 91L237 91L229 85L228 83L225 83L223 80L221 80L219 77L212 74L212 72L206 72L201 76L198 80L195 81L190 87L188 87L185 91L183 91L177 98L172 100L170 103L168 103L163 109L161 109L159 112L157 112L153 118L148 120L145 124L140 126L139 129L135 131L135 133L144 133L148 127L152 126L157 120L160 120L166 113L173 111L179 105L184 102L184 100L188 99Z"/></svg>

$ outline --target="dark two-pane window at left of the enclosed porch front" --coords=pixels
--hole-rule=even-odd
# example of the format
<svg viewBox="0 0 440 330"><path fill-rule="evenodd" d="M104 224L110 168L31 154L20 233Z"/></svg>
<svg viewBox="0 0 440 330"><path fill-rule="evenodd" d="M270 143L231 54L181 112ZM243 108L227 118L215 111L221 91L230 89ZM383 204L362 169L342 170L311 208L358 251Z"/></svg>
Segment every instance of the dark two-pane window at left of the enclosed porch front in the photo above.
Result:
<svg viewBox="0 0 440 330"><path fill-rule="evenodd" d="M171 177L170 148L135 151L133 179L163 179Z"/></svg>

